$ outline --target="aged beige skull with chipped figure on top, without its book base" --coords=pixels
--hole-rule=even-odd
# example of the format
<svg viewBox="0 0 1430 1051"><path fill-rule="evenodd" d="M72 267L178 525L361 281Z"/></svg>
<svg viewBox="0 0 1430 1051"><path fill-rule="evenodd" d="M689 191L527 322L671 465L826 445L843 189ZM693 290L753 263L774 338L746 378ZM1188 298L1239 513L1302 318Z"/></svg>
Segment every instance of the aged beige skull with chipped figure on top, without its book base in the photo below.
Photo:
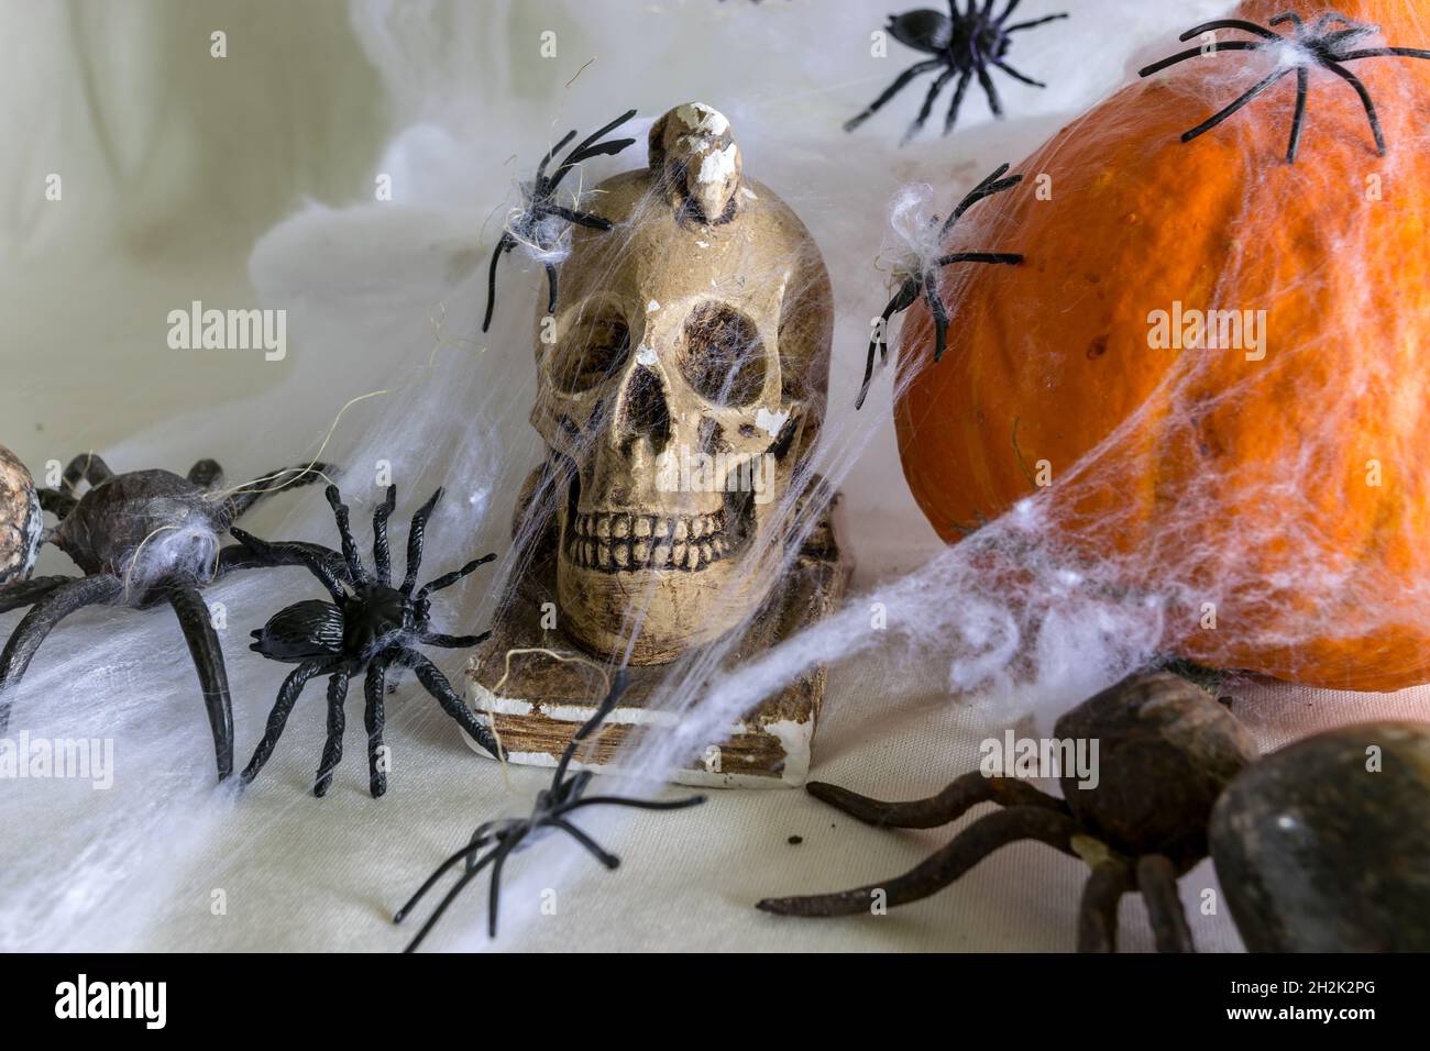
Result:
<svg viewBox="0 0 1430 1051"><path fill-rule="evenodd" d="M585 648L662 663L778 582L781 505L824 418L829 276L701 103L582 206L615 227L573 230L556 313L536 320L532 426L566 485L558 606Z"/></svg>

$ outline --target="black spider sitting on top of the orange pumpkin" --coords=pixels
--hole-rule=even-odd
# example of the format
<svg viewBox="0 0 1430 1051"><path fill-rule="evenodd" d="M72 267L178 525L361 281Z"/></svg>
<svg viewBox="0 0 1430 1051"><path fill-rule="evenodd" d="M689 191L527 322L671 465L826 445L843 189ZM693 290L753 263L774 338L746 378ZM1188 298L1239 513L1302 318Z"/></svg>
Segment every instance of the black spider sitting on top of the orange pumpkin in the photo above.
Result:
<svg viewBox="0 0 1430 1051"><path fill-rule="evenodd" d="M1341 66L1341 63L1357 61L1358 59L1384 57L1430 59L1430 51L1416 47L1369 47L1357 51L1347 51L1344 50L1346 47L1354 47L1367 37L1373 37L1380 31L1380 27L1363 21L1353 21L1337 11L1323 14L1310 27L1301 20L1301 16L1293 11L1276 16L1271 19L1271 24L1290 24L1291 33L1273 33L1270 29L1258 26L1254 21L1246 21L1244 19L1217 19L1214 21L1204 21L1200 26L1188 29L1178 39L1185 41L1218 29L1236 29L1243 33L1250 33L1258 39L1228 40L1226 43L1213 44L1211 47L1193 47L1168 59L1163 59L1161 61L1155 61L1138 71L1138 76L1150 77L1153 73L1160 73L1164 69L1187 61L1188 59L1195 59L1203 54L1220 54L1221 51L1260 51L1268 47L1277 47L1290 49L1290 53L1296 56L1294 64L1286 64L1284 60L1280 61L1278 67L1268 73L1266 79L1256 84L1256 87L1246 92L1240 99L1220 113L1216 113L1190 132L1185 132L1181 136L1181 140L1188 143L1197 136L1210 132L1258 94L1276 84L1281 77L1288 74L1291 70L1296 70L1296 116L1291 119L1291 143L1286 150L1287 163L1294 164L1296 154L1301 146L1301 129L1306 124L1306 99L1310 90L1308 70L1313 64L1316 64L1330 70L1356 89L1356 94L1360 96L1361 106L1366 107L1366 116L1370 119L1370 130L1376 136L1376 150L1380 156L1386 156L1386 137L1380 130L1380 117L1376 114L1376 103L1371 100L1370 92L1366 90L1366 84L1363 84L1354 73ZM1340 29L1336 29L1337 26L1340 26Z"/></svg>

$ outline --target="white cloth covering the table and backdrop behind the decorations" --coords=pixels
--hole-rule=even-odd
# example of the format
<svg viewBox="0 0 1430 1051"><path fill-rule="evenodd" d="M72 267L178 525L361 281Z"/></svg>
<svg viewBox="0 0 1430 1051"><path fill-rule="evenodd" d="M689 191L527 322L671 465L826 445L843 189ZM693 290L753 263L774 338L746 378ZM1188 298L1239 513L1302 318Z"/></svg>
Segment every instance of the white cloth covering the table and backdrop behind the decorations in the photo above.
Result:
<svg viewBox="0 0 1430 1051"><path fill-rule="evenodd" d="M343 403L382 385L395 362L420 360L433 342L462 352L476 345L470 303L452 330L442 329L440 289L446 283L468 295L479 287L476 275L485 276L495 240L490 216L511 183L505 162L516 150L528 162L539 152L542 136L533 127L555 122L563 130L578 123L576 114L586 126L628 104L649 117L695 97L719 104L742 142L749 130L746 166L781 192L788 189L817 237L828 242L841 310L831 392L838 422L849 412L862 365L862 319L879 306L874 300L884 276L869 260L889 192L950 169L964 186L997 160L1024 156L1123 83L1134 56L1227 4L1070 0L1027 7L1028 17L1057 7L1074 11L1067 33L1080 34L1084 47L1058 47L1058 29L1020 44L1018 64L1055 87L1010 89L1017 119L1005 124L991 123L981 100L971 97L957 136L937 137L935 113L932 130L895 152L921 86L859 136L838 132L842 116L914 60L894 43L889 61L867 57L868 33L885 9L855 0L368 3L352 11L335 1L7 0L0 6L0 127L7 142L0 183L9 202L0 214L0 442L36 473L86 449L103 452L116 469L182 470L213 455L229 462L233 482L300 462ZM1124 27L1120 33L1098 29L1114 19ZM546 29L559 41L553 60L538 51ZM210 54L212 33L220 30L227 34L226 59ZM568 87L589 57L592 66ZM960 162L950 164L950 157ZM625 166L622 159L615 167ZM847 183L854 182L849 172L864 172L864 184L858 192L839 189L825 174L834 169ZM808 200L801 172L811 172ZM63 176L61 202L44 199L50 173ZM378 173L392 176L390 206L372 203ZM947 180L940 194L952 196ZM499 309L519 315L523 325L511 330L525 333L539 275L521 277L518 269L502 270ZM403 282L425 275L432 296L413 302L398 293ZM180 356L164 343L170 309L192 300L253 306L273 287L287 286L295 289L283 300L293 349L283 362ZM325 319L349 310L372 312L370 340L325 340ZM518 347L511 360L509 389L499 392L505 412L492 429L515 469L535 462L538 443L523 420L531 357ZM881 395L887 402L887 376L872 398ZM403 426L390 413L376 413L372 405L359 406L345 426ZM349 432L335 433L340 446ZM453 456L432 450L433 483L443 468L460 469ZM855 595L938 549L904 488L891 428L864 450L844 489L847 539L858 561ZM492 516L502 519L513 493L486 495ZM410 510L418 496L405 489L403 508ZM307 500L320 503L313 493ZM292 512L265 509L250 528L276 535L289 520L285 515ZM322 515L307 520L320 526ZM492 525L483 539L498 538L500 528ZM64 559L49 552L41 572L64 571ZM282 675L243 652L245 635L252 621L296 601L292 578L283 581L220 592L243 628L225 633L240 761ZM478 592L463 595L463 605L473 608ZM262 601L253 608L249 599ZM503 772L473 756L409 682L392 702L389 795L368 798L355 699L347 759L329 798L313 799L306 789L323 719L319 691L310 686L263 779L232 802L204 786L212 752L177 631L169 623L166 632L157 619L144 626L150 621L139 618L84 613L56 632L36 665L63 653L77 666L103 635L117 689L133 704L152 705L152 718L116 731L120 755L129 748L146 764L172 762L177 774L162 781L146 766L134 784L107 794L0 785L0 792L17 789L0 802L7 827L0 891L16 905L0 925L0 944L396 949L408 929L393 927L390 912L476 824L523 812L548 778L533 769ZM0 618L0 628L7 632L16 619ZM134 661L126 639L150 662ZM977 766L978 742L997 728L948 701L940 689L947 669L898 663L891 653L832 671L815 738L815 778L907 798ZM443 666L455 675L460 662ZM103 691L109 682L80 685ZM47 682L27 694L16 725L43 726L46 704L69 704L69 682ZM1271 748L1358 718L1423 716L1426 698L1424 691L1380 698L1254 685L1238 688L1237 711ZM124 736L132 731L134 736ZM169 734L173 749L160 752L144 734L156 741ZM895 875L957 827L875 831L799 791L729 791L714 792L688 812L639 814L619 824L593 815L591 828L623 858L621 869L606 872L585 859L552 887L555 915L539 915L546 845L518 855L509 865L509 878L521 877L509 892L513 918L499 948L1074 945L1085 869L1038 845L1008 848L954 888L884 917L797 921L762 915L754 902ZM799 845L788 842L794 835L802 837ZM1226 908L1203 914L1205 888L1216 888L1210 862L1181 884L1198 947L1238 948ZM36 898L46 907L31 918L19 915L19 902ZM455 907L432 945L482 944L483 919L485 881ZM1124 901L1123 921L1124 947L1150 948L1137 899Z"/></svg>

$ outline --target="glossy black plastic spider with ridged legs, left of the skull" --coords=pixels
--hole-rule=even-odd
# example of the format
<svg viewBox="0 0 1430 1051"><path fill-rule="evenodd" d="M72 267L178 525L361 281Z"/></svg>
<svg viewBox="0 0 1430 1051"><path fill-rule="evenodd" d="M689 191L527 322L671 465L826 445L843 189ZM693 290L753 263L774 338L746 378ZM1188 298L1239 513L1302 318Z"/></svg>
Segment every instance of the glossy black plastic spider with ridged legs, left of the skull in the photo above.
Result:
<svg viewBox="0 0 1430 1051"><path fill-rule="evenodd" d="M372 551L376 576L368 572L358 555L358 543L347 525L347 508L335 485L327 486L327 502L333 508L337 532L342 536L346 579L345 575L335 572L329 559L315 553L315 545L267 543L242 529L233 531L235 538L259 556L292 558L302 562L333 596L333 602L317 599L296 602L280 609L260 631L253 632L256 641L249 649L270 661L296 663L297 668L279 688L263 739L243 771L243 784L252 782L269 761L279 736L283 734L283 726L287 724L287 716L293 711L293 705L297 704L307 681L316 675L329 675L332 678L327 681L327 742L323 746L317 781L313 785L313 795L326 795L333 781L333 769L343 758L343 702L347 699L347 681L366 669L363 692L368 701L365 722L368 726L369 788L373 798L386 792L388 774L382 764L382 731L386 722L383 692L386 672L392 665L412 669L418 682L442 705L442 711L450 715L482 748L499 755L496 739L476 721L472 711L452 689L452 684L435 663L413 648L422 643L443 649L465 649L478 645L490 633L442 635L430 631L432 605L428 596L432 592L450 588L478 566L495 559L496 555L473 559L460 569L443 573L430 583L418 588L413 593L418 571L422 566L422 541L428 516L440 498L442 490L438 489L412 516L412 526L408 532L408 572L399 588L392 586L392 558L388 549L388 518L396 508L396 486L388 488L386 499L378 505L372 515Z"/></svg>

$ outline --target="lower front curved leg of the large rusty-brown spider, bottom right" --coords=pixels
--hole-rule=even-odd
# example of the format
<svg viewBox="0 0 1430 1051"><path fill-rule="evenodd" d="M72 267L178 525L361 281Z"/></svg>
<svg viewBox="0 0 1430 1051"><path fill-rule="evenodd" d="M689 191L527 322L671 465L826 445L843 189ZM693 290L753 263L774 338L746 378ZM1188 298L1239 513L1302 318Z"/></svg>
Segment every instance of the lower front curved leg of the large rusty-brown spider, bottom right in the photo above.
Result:
<svg viewBox="0 0 1430 1051"><path fill-rule="evenodd" d="M905 905L948 887L1000 847L1020 839L1037 839L1071 854L1071 841L1077 831L1077 822L1065 814L1042 806L1010 806L980 818L955 835L947 847L894 879L835 894L765 898L755 908L788 917L849 917L867 912L877 891L887 895L889 907Z"/></svg>

